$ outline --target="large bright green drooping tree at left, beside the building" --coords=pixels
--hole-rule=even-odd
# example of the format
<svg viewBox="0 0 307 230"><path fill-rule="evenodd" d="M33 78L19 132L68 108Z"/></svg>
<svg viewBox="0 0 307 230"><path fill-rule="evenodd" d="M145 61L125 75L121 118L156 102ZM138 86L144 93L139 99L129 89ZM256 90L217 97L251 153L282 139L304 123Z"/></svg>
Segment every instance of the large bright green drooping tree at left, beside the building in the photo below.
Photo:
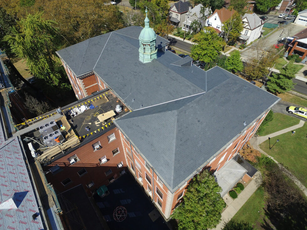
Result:
<svg viewBox="0 0 307 230"><path fill-rule="evenodd" d="M63 83L57 71L60 65L53 59L59 42L57 32L54 21L44 20L41 14L29 14L4 37L12 52L26 61L31 73L53 86Z"/></svg>

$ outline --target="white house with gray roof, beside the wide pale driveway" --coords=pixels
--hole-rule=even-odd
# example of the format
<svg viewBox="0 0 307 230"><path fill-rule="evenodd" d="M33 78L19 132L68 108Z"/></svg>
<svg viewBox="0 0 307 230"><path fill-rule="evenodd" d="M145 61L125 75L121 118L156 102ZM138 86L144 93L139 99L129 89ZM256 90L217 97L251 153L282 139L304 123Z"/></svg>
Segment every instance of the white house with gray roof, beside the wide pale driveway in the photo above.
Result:
<svg viewBox="0 0 307 230"><path fill-rule="evenodd" d="M242 18L243 30L238 38L240 43L249 44L260 37L264 22L257 14L244 14Z"/></svg>

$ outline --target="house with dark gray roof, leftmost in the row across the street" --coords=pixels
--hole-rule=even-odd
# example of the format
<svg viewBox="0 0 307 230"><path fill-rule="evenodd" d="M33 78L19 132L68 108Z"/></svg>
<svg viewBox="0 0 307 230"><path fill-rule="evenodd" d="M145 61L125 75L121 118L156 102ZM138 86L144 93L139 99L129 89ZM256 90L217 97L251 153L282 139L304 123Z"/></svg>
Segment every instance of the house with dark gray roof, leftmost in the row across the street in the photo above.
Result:
<svg viewBox="0 0 307 230"><path fill-rule="evenodd" d="M181 26L185 21L185 13L187 13L192 7L189 1L178 1L174 3L169 9L169 20L175 26Z"/></svg>

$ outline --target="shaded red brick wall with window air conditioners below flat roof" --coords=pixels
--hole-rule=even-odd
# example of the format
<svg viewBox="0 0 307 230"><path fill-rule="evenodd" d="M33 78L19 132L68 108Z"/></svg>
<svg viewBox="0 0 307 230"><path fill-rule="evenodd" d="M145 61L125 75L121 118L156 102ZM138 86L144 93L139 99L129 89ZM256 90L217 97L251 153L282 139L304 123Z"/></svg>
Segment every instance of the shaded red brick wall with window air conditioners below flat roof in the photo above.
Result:
<svg viewBox="0 0 307 230"><path fill-rule="evenodd" d="M108 141L107 136L114 133L116 139L113 141ZM100 141L101 149L94 151L92 145ZM112 150L119 148L119 153L113 156ZM70 164L68 158L76 155L79 158L79 161ZM99 158L106 156L108 161L104 164L100 164ZM118 168L117 164L123 162L123 167ZM76 185L82 184L85 188L87 194L90 196L91 191L99 188L102 185L108 185L111 177L117 179L120 174L119 172L126 168L126 160L124 156L124 151L122 148L122 143L120 140L119 131L117 128L109 130L107 133L99 136L94 141L76 149L72 153L52 162L50 165L44 167L44 171L48 171L50 167L59 165L62 171L53 175L51 172L46 174L48 182L50 182L57 191L64 192L67 189L75 187ZM79 176L78 171L85 168L87 171L86 174ZM112 173L106 176L105 172L111 169ZM66 178L70 178L72 182L64 186L61 181L64 181ZM94 186L91 188L86 187L86 184L94 182Z"/></svg>

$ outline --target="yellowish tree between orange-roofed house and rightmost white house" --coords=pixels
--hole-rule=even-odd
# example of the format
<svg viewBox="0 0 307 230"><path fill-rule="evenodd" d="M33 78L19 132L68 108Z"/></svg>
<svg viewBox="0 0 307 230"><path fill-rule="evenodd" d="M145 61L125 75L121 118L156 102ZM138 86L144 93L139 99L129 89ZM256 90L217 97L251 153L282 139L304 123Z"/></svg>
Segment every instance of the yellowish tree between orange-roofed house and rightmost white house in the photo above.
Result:
<svg viewBox="0 0 307 230"><path fill-rule="evenodd" d="M222 31L225 42L236 41L243 30L243 22L238 12L232 10L232 16L223 23Z"/></svg>

